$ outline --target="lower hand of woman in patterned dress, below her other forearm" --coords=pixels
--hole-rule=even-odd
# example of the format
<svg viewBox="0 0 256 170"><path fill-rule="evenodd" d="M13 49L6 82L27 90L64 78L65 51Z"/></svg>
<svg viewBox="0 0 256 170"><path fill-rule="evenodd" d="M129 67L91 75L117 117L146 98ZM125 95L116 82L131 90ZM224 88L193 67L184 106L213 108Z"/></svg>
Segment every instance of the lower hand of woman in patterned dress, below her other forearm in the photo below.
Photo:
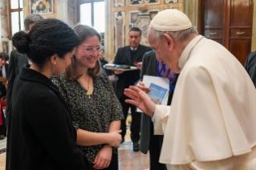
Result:
<svg viewBox="0 0 256 170"><path fill-rule="evenodd" d="M112 160L112 148L108 147L108 145L104 145L100 152L98 152L97 156L95 157L94 163L95 164L92 168L94 169L104 169L108 168L109 164Z"/></svg>

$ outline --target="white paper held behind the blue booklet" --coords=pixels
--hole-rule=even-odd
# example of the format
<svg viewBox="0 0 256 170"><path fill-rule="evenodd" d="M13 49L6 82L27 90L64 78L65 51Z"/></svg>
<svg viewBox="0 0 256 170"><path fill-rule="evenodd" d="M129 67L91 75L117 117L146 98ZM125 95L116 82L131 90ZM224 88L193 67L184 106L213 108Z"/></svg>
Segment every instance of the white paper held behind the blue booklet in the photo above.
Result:
<svg viewBox="0 0 256 170"><path fill-rule="evenodd" d="M149 87L151 83L154 83L157 86L169 89L169 79L167 79L167 78L144 75L142 82L144 83L145 87ZM167 91L165 98L163 99L161 105L166 106L167 102L168 102L168 98L169 98L169 91ZM142 111L140 111L140 109L138 107L137 107L136 111L142 112Z"/></svg>

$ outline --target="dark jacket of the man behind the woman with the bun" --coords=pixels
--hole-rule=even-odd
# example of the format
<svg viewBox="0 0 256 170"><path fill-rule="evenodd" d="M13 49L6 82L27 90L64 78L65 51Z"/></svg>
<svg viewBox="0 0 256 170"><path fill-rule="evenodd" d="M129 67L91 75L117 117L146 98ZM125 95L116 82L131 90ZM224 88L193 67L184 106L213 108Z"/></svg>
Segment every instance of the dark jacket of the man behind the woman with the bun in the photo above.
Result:
<svg viewBox="0 0 256 170"><path fill-rule="evenodd" d="M14 79L22 71L22 67L28 63L26 55L18 53L18 51L11 51L9 70L7 71L8 87L6 92L6 126L8 125L8 119L10 115L10 99L12 94L12 89L14 86Z"/></svg>

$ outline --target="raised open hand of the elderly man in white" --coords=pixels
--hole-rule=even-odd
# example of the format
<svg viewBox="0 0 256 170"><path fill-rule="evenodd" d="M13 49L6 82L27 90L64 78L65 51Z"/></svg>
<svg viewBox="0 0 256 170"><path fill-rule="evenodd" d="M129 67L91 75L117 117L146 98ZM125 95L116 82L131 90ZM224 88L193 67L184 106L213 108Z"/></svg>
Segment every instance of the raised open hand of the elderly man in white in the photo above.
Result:
<svg viewBox="0 0 256 170"><path fill-rule="evenodd" d="M124 95L131 98L126 99L126 103L139 107L141 111L149 116L154 115L156 104L153 103L149 96L144 91L140 90L140 88L130 86L129 88L124 89Z"/></svg>

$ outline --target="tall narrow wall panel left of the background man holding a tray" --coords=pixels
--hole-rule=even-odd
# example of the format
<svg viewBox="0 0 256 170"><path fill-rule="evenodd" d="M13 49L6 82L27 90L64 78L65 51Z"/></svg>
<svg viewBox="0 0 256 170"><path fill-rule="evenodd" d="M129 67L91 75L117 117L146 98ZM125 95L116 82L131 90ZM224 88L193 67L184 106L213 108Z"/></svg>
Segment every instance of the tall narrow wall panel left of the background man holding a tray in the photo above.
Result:
<svg viewBox="0 0 256 170"><path fill-rule="evenodd" d="M114 13L114 51L116 51L119 47L125 46L125 12L119 11Z"/></svg>

